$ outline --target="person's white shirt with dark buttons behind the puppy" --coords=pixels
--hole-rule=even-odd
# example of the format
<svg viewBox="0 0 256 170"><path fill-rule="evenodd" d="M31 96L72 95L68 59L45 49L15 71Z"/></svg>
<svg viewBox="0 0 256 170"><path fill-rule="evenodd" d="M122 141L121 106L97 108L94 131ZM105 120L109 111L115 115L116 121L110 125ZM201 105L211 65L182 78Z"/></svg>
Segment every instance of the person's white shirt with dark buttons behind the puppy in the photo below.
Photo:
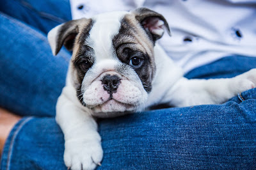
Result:
<svg viewBox="0 0 256 170"><path fill-rule="evenodd" d="M159 44L184 72L230 55L256 57L256 0L70 0L73 19L147 7L172 36Z"/></svg>

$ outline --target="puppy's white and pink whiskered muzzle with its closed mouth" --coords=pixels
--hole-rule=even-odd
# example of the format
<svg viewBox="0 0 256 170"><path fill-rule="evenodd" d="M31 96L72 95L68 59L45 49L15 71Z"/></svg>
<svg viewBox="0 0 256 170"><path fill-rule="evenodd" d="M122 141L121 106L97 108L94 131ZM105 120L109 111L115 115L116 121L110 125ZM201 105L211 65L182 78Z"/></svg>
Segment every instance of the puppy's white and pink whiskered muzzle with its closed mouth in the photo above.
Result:
<svg viewBox="0 0 256 170"><path fill-rule="evenodd" d="M107 77L115 81L116 77ZM112 82L111 82L112 83ZM124 112L136 111L143 104L141 90L134 86L129 80L122 79L118 82L118 88L115 84L104 87L107 82L94 81L83 93L83 102L85 106L92 110L93 116L102 117L102 115L110 114L119 116Z"/></svg>

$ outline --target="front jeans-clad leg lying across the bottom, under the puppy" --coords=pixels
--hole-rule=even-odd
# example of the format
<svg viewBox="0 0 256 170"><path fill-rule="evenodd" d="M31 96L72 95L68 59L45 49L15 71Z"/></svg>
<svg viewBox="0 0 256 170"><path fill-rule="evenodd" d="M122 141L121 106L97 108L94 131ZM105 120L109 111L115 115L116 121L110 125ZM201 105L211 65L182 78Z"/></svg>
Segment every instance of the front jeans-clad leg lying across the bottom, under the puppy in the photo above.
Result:
<svg viewBox="0 0 256 170"><path fill-rule="evenodd" d="M253 169L256 89L241 97L99 120L99 169ZM67 169L63 151L54 118L23 118L6 141L0 169Z"/></svg>

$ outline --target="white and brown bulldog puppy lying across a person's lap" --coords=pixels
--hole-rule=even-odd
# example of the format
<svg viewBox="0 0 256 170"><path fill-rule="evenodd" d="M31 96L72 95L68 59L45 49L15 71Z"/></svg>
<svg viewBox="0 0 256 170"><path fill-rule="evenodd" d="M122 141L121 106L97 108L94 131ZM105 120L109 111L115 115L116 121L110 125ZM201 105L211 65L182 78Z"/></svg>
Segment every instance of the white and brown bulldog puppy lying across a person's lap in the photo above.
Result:
<svg viewBox="0 0 256 170"><path fill-rule="evenodd" d="M71 20L49 32L54 55L62 45L73 51L56 106L67 167L100 165L103 151L96 117L120 116L156 104L221 104L255 88L255 69L231 79L184 78L182 69L156 43L164 28L170 35L162 15L138 8Z"/></svg>

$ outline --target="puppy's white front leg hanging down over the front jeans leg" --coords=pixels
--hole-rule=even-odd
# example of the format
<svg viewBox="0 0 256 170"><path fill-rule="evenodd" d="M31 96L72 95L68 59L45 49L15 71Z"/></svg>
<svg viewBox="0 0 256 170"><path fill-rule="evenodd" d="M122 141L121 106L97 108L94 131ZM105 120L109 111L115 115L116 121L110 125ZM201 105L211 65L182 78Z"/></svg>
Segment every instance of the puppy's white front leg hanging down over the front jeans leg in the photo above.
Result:
<svg viewBox="0 0 256 170"><path fill-rule="evenodd" d="M64 162L73 170L95 169L103 156L97 123L72 94L74 89L63 88L56 106L56 121L65 136Z"/></svg>

